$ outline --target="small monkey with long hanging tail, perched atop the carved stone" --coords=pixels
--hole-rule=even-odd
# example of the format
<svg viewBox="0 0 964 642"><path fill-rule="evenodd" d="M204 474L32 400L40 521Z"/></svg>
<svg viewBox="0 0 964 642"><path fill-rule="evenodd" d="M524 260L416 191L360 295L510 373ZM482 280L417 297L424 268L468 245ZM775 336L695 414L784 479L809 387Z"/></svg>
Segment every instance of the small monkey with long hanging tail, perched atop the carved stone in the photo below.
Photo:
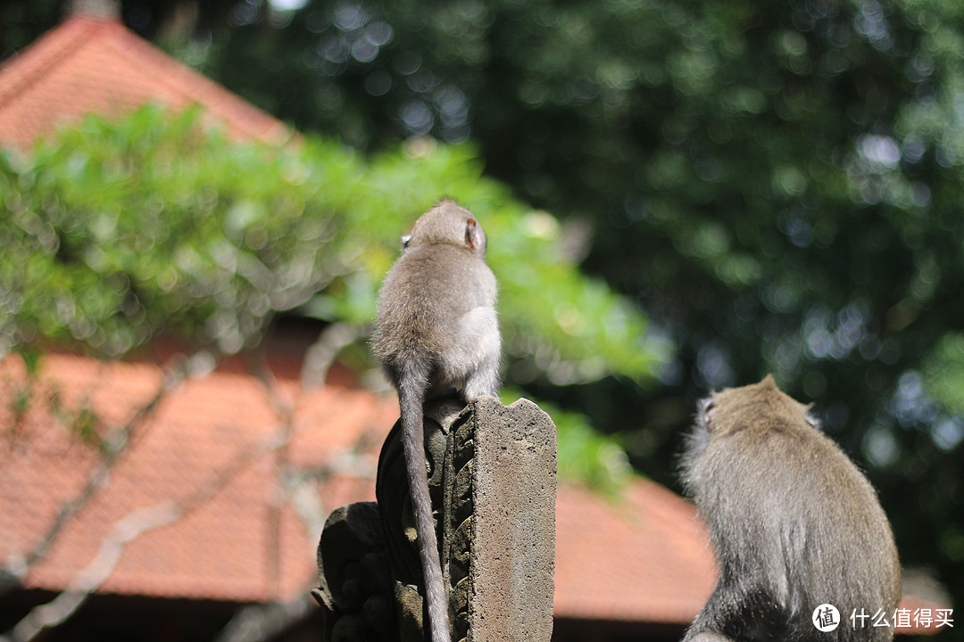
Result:
<svg viewBox="0 0 964 642"><path fill-rule="evenodd" d="M469 400L498 388L495 275L482 226L451 200L423 214L404 240L379 295L375 356L398 390L402 443L433 642L451 637L448 592L425 470L422 405L451 389Z"/></svg>

